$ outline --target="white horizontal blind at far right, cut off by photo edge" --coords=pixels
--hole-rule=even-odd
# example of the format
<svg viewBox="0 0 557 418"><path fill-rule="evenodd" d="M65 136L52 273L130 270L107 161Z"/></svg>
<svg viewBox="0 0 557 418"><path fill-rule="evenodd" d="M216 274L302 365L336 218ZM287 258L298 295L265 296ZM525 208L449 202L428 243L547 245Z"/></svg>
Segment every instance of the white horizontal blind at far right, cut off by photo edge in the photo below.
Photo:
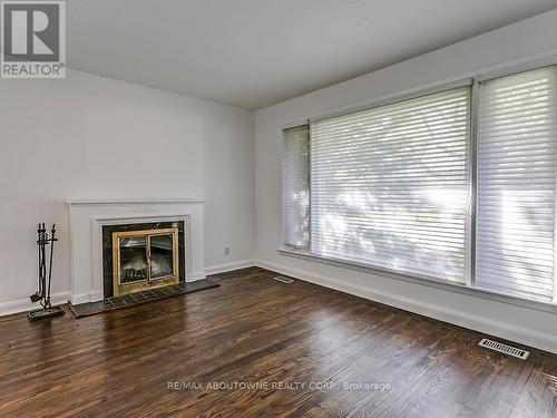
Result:
<svg viewBox="0 0 557 418"><path fill-rule="evenodd" d="M476 283L550 301L557 69L481 84Z"/></svg>

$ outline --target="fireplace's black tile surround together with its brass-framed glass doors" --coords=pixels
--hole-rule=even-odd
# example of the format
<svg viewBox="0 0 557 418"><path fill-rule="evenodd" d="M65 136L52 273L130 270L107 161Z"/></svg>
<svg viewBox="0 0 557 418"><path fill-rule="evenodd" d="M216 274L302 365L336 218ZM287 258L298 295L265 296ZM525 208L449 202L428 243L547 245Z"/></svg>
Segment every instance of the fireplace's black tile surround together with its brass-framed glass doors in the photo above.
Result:
<svg viewBox="0 0 557 418"><path fill-rule="evenodd" d="M121 297L185 279L184 222L102 226L104 297Z"/></svg>

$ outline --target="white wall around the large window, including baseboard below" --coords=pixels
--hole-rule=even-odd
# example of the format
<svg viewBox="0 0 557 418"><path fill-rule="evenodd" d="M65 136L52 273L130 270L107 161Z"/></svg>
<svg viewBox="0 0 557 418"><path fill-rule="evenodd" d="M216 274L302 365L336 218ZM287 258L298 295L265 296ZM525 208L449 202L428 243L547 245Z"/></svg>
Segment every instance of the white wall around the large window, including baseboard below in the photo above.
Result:
<svg viewBox="0 0 557 418"><path fill-rule="evenodd" d="M557 314L277 253L281 128L341 109L538 56L557 56L557 11L471 38L255 115L256 259L262 266L557 352ZM557 310L556 310L557 312Z"/></svg>

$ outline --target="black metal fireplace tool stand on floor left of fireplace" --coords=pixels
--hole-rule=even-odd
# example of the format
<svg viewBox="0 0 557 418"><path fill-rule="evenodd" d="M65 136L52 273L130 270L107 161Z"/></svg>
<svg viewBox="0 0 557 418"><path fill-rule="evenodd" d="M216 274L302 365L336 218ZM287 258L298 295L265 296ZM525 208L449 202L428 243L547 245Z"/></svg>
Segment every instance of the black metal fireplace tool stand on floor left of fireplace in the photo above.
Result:
<svg viewBox="0 0 557 418"><path fill-rule="evenodd" d="M37 230L39 239L37 246L39 249L39 290L31 294L31 302L40 302L42 308L36 309L27 314L29 321L35 321L41 318L63 315L66 312L62 307L52 307L50 303L50 284L52 282L52 260L55 255L55 242L58 241L56 236L56 225L52 225L50 236L45 227L45 224L39 224ZM47 247L50 246L50 254L48 255L48 275L47 275Z"/></svg>

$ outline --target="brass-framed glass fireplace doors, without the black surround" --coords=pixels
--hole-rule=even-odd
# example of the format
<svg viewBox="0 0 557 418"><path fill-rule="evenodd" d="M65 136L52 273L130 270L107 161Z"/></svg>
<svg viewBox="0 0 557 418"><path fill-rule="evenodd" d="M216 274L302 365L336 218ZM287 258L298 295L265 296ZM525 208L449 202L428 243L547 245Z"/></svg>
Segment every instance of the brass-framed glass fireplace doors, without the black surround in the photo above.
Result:
<svg viewBox="0 0 557 418"><path fill-rule="evenodd" d="M113 294L178 283L178 229L113 233Z"/></svg>

